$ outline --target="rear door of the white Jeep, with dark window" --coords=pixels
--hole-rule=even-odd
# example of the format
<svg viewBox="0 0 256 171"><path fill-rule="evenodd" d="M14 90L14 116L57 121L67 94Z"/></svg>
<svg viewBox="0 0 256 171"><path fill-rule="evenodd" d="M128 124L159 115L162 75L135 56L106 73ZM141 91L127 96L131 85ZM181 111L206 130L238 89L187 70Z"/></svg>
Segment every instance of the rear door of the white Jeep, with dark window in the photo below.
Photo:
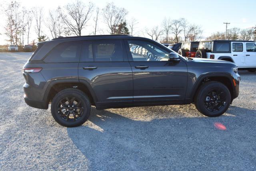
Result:
<svg viewBox="0 0 256 171"><path fill-rule="evenodd" d="M245 65L245 50L243 42L231 42L232 44L232 59L238 67Z"/></svg>

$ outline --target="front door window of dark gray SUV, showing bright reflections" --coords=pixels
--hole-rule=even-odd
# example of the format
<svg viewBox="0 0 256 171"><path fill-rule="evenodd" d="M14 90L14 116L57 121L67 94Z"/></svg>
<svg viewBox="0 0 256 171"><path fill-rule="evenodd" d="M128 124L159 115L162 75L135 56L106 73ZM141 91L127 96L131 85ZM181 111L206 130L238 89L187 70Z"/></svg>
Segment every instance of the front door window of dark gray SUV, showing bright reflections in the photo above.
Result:
<svg viewBox="0 0 256 171"><path fill-rule="evenodd" d="M133 61L168 61L169 52L150 42L128 41Z"/></svg>

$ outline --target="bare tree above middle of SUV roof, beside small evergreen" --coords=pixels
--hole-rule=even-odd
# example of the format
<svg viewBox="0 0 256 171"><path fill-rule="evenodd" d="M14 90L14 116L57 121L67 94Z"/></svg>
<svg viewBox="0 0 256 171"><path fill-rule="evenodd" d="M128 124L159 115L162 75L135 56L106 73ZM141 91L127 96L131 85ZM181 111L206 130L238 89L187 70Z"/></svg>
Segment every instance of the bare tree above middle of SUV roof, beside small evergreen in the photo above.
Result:
<svg viewBox="0 0 256 171"><path fill-rule="evenodd" d="M104 21L110 30L109 33L115 34L117 26L124 20L128 12L124 8L116 7L113 2L108 3L102 11Z"/></svg>

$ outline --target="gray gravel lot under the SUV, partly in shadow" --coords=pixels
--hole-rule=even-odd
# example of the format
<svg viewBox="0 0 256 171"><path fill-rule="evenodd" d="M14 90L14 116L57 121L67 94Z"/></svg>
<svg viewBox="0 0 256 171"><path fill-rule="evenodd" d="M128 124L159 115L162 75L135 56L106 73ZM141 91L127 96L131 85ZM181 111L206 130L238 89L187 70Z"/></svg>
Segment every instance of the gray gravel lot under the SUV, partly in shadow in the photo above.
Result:
<svg viewBox="0 0 256 171"><path fill-rule="evenodd" d="M256 73L240 72L240 95L220 117L194 105L93 108L66 128L24 102L30 56L0 53L0 170L256 169Z"/></svg>

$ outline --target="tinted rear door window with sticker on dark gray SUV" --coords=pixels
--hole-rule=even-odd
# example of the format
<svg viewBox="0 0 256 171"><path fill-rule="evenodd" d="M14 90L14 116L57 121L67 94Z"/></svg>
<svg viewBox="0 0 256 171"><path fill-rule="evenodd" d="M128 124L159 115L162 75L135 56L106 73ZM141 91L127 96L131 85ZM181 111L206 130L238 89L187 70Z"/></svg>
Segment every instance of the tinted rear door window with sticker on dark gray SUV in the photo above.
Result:
<svg viewBox="0 0 256 171"><path fill-rule="evenodd" d="M121 40L100 40L84 42L82 60L85 62L118 62L124 61Z"/></svg>

